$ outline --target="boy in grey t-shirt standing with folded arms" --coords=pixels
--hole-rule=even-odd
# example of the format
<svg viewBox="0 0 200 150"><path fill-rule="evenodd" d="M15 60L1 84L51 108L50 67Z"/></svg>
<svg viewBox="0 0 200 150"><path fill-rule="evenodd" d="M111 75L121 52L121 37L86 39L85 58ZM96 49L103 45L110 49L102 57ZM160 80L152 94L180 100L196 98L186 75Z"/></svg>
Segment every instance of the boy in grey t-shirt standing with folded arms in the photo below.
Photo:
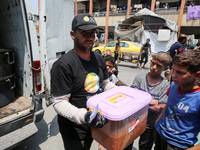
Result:
<svg viewBox="0 0 200 150"><path fill-rule="evenodd" d="M154 123L162 109L166 106L167 95L165 94L170 84L161 73L168 69L172 58L165 52L156 53L151 60L150 72L139 74L135 77L131 87L143 90L151 94L152 102L149 105L146 131L141 134L139 150L151 150L153 146Z"/></svg>

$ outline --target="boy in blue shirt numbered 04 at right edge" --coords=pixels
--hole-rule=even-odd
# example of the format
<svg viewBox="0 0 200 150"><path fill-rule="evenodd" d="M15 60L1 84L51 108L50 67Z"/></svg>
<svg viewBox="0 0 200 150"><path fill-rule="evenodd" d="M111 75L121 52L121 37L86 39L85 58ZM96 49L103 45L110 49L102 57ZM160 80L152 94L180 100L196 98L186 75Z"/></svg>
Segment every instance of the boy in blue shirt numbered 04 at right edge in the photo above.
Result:
<svg viewBox="0 0 200 150"><path fill-rule="evenodd" d="M200 132L200 50L184 51L172 62L167 105L155 124L155 150L199 150L194 144Z"/></svg>

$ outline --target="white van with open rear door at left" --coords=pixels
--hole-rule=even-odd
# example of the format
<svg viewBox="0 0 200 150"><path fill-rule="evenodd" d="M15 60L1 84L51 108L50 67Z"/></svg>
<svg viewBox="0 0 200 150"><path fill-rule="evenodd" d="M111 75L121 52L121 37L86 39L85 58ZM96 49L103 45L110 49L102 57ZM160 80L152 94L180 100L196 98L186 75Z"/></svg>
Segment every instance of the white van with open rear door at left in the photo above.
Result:
<svg viewBox="0 0 200 150"><path fill-rule="evenodd" d="M40 47L31 0L0 0L0 149L34 135L50 98L50 69L73 48L73 0L40 0Z"/></svg>

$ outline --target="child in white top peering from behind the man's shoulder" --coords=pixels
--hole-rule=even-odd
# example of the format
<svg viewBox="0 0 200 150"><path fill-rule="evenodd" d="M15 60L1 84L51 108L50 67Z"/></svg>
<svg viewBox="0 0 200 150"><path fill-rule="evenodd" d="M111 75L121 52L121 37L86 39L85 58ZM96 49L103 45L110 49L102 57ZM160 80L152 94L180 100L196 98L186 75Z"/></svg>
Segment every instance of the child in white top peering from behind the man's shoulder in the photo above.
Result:
<svg viewBox="0 0 200 150"><path fill-rule="evenodd" d="M107 55L104 57L104 60L106 62L110 82L117 84L117 77L112 72L112 69L115 67L115 58Z"/></svg>

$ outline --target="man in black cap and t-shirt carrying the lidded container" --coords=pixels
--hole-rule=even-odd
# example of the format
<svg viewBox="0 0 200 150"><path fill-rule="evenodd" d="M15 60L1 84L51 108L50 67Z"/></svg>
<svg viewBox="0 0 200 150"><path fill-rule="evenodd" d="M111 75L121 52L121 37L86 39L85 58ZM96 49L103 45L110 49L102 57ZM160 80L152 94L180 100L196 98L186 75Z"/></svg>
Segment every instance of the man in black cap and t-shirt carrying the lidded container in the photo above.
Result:
<svg viewBox="0 0 200 150"><path fill-rule="evenodd" d="M89 150L93 141L90 127L101 128L107 122L100 113L92 120L86 109L89 97L115 87L108 79L103 57L92 51L95 29L101 28L90 14L75 16L70 31L74 49L60 57L51 70L53 106L67 150Z"/></svg>

